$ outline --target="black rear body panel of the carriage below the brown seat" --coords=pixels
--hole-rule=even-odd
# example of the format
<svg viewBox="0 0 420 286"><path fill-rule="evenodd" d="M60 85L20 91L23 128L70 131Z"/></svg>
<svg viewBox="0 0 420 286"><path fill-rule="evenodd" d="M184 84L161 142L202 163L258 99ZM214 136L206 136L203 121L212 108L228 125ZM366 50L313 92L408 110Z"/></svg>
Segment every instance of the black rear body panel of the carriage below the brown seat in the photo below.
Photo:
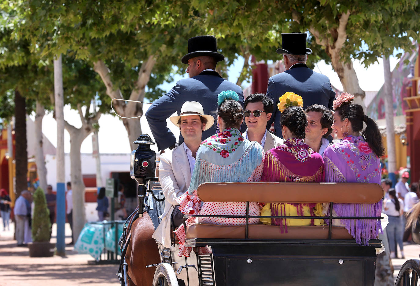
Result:
<svg viewBox="0 0 420 286"><path fill-rule="evenodd" d="M374 246L260 241L211 249L215 286L373 286L375 279ZM208 286L202 265L200 285Z"/></svg>

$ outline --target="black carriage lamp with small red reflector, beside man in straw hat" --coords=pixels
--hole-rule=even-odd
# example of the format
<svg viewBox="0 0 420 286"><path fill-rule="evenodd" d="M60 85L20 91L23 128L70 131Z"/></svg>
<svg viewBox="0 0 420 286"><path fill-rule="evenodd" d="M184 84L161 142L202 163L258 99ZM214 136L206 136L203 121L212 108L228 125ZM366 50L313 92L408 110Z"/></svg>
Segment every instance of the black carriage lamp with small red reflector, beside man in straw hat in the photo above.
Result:
<svg viewBox="0 0 420 286"><path fill-rule="evenodd" d="M139 216L143 216L144 197L146 195L146 184L150 180L157 180L156 153L150 149L150 145L155 144L147 134L142 134L134 141L139 144L136 150L131 152L130 176L139 184Z"/></svg>

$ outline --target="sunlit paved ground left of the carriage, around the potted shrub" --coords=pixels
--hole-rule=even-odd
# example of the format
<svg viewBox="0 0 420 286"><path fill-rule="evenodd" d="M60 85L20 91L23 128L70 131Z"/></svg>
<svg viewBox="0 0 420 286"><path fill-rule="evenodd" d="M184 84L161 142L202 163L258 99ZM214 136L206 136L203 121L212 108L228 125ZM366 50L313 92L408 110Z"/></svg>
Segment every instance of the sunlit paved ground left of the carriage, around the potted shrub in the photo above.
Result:
<svg viewBox="0 0 420 286"><path fill-rule="evenodd" d="M70 233L66 224L66 243L71 242ZM0 232L0 286L120 285L117 265L88 265L89 260L90 255L77 254L72 246L66 247L66 257L29 257L27 247L16 247L13 231Z"/></svg>

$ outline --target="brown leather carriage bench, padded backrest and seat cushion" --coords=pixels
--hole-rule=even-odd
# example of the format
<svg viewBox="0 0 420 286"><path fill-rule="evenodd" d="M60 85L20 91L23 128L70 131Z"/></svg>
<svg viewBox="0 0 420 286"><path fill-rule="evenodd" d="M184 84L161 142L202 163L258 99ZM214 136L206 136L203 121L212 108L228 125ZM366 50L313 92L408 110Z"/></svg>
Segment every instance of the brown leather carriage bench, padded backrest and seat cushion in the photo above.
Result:
<svg viewBox="0 0 420 286"><path fill-rule="evenodd" d="M203 202L377 203L383 189L374 183L207 182L197 194ZM245 239L245 233L245 225L196 223L187 225L186 239ZM329 226L288 226L281 233L279 226L249 224L247 238L329 239ZM344 227L333 226L331 239L353 238Z"/></svg>

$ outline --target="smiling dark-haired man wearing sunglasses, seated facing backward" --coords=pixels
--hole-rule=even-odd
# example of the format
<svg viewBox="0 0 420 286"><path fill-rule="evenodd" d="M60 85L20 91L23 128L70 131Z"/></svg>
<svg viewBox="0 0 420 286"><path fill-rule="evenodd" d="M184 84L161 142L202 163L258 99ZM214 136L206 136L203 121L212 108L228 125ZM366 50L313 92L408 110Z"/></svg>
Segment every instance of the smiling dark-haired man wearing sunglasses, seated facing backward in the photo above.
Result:
<svg viewBox="0 0 420 286"><path fill-rule="evenodd" d="M245 138L261 144L264 151L283 144L283 139L268 132L267 122L271 118L274 102L265 94L251 94L244 102L244 117L247 131Z"/></svg>

